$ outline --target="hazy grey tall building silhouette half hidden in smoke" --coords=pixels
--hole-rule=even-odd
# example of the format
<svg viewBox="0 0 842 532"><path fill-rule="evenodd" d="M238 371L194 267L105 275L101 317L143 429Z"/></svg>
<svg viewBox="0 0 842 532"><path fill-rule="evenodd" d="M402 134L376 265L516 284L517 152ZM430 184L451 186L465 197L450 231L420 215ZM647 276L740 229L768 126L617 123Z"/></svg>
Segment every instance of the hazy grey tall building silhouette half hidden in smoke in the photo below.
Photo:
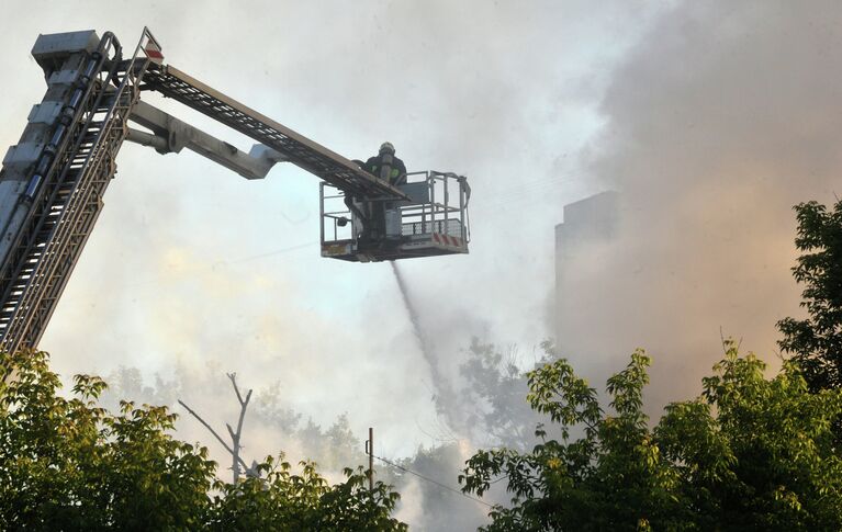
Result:
<svg viewBox="0 0 842 532"><path fill-rule="evenodd" d="M569 312L577 305L569 305L565 297L572 283L571 268L582 268L582 262L574 261L577 252L594 245L606 245L617 238L619 231L619 193L600 192L574 203L564 205L564 222L555 226L555 338L562 353L566 351L569 338L576 331L565 319ZM597 253L598 260L598 253Z"/></svg>

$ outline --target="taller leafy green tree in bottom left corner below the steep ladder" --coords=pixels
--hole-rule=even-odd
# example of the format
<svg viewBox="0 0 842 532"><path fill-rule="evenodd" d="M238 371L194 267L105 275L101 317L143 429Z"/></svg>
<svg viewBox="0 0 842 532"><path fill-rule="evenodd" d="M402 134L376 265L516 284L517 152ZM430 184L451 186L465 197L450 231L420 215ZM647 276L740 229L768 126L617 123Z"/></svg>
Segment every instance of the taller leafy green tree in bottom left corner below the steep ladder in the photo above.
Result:
<svg viewBox="0 0 842 532"><path fill-rule="evenodd" d="M3 355L0 373L0 529L189 529L200 524L215 465L171 438L166 408L100 408L98 377L74 397L44 352Z"/></svg>

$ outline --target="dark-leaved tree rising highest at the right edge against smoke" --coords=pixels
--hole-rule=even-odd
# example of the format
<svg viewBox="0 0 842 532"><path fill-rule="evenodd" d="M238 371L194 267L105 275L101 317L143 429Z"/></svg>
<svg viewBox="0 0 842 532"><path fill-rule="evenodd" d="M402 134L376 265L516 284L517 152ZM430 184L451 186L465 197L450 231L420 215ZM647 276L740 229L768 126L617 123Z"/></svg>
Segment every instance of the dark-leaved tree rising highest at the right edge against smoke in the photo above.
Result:
<svg viewBox="0 0 842 532"><path fill-rule="evenodd" d="M807 318L777 326L781 349L793 354L810 389L842 387L842 201L832 211L817 202L795 206L801 256L793 276L805 285Z"/></svg>

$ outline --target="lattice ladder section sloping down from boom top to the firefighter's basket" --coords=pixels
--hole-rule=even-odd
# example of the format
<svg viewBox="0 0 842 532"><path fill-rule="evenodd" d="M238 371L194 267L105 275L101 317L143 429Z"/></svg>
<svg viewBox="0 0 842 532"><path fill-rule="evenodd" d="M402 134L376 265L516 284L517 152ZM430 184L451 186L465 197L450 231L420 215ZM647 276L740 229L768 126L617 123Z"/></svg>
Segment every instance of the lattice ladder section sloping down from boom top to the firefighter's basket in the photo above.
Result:
<svg viewBox="0 0 842 532"><path fill-rule="evenodd" d="M284 160L348 194L391 200L407 199L397 188L361 170L339 154L207 87L171 65L153 65L144 76L141 89L160 92L254 138L278 151Z"/></svg>

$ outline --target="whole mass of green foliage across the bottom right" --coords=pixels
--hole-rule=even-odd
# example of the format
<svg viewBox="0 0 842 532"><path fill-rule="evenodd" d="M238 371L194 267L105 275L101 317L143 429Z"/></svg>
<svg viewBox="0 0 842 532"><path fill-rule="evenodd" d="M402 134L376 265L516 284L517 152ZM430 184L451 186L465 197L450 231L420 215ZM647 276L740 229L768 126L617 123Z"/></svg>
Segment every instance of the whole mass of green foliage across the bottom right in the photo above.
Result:
<svg viewBox="0 0 842 532"><path fill-rule="evenodd" d="M484 530L840 530L842 392L810 394L793 364L766 380L760 360L726 347L703 396L670 405L653 430L642 351L608 380L608 411L565 360L530 372L528 401L561 438L539 426L531 452L468 461L465 493L505 480L512 496Z"/></svg>

